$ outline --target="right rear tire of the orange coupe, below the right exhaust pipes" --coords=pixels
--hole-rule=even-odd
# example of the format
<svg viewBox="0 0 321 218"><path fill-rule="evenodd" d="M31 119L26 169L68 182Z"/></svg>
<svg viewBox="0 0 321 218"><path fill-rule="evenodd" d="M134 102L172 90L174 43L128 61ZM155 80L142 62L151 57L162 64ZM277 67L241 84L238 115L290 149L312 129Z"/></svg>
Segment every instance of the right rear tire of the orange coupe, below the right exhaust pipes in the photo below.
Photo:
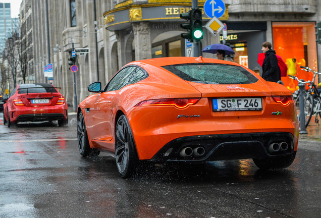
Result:
<svg viewBox="0 0 321 218"><path fill-rule="evenodd" d="M265 159L256 159L253 158L253 161L259 169L262 170L275 170L289 167L294 161L296 155L296 151L294 151L290 155L282 156L282 157L271 157Z"/></svg>

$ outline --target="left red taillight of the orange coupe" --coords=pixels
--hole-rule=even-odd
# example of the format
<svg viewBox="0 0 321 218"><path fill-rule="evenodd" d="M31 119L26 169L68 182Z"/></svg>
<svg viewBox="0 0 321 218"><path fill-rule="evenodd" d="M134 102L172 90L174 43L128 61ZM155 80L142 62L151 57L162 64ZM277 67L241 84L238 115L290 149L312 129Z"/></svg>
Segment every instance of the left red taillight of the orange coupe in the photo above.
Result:
<svg viewBox="0 0 321 218"><path fill-rule="evenodd" d="M164 98L142 101L136 106L165 106L174 105L177 108L185 108L188 105L196 104L200 98Z"/></svg>

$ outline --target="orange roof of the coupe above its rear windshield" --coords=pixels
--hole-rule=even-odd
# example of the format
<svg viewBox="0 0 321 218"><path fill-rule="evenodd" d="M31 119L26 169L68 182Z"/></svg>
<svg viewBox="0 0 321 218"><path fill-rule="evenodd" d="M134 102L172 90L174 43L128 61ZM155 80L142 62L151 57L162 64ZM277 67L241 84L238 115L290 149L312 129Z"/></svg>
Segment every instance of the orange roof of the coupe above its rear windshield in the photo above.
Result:
<svg viewBox="0 0 321 218"><path fill-rule="evenodd" d="M145 59L137 61L138 63L149 64L153 66L167 66L167 65L176 65L176 64L197 64L197 63L212 63L212 64L229 64L240 66L234 62L227 62L218 59L203 58L203 57L168 57L168 58L155 58L155 59ZM137 64L137 62L131 62L129 64Z"/></svg>

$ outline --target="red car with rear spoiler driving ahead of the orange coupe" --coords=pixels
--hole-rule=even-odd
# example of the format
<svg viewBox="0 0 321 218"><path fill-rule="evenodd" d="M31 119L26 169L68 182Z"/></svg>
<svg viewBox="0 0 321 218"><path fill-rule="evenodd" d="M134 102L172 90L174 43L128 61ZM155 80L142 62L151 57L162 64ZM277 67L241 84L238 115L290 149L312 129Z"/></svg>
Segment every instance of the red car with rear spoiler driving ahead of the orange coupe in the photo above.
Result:
<svg viewBox="0 0 321 218"><path fill-rule="evenodd" d="M20 84L4 104L4 124L58 120L68 124L68 105L57 88L48 83Z"/></svg>

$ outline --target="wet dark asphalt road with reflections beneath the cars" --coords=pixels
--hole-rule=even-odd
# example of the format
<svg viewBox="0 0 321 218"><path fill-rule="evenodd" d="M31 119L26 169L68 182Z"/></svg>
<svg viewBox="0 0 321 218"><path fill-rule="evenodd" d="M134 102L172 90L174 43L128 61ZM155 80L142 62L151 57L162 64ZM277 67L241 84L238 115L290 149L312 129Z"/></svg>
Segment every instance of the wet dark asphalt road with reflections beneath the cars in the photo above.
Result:
<svg viewBox="0 0 321 218"><path fill-rule="evenodd" d="M252 160L149 165L132 179L113 158L79 155L76 116L2 125L0 217L321 217L321 142L300 141L291 167Z"/></svg>

